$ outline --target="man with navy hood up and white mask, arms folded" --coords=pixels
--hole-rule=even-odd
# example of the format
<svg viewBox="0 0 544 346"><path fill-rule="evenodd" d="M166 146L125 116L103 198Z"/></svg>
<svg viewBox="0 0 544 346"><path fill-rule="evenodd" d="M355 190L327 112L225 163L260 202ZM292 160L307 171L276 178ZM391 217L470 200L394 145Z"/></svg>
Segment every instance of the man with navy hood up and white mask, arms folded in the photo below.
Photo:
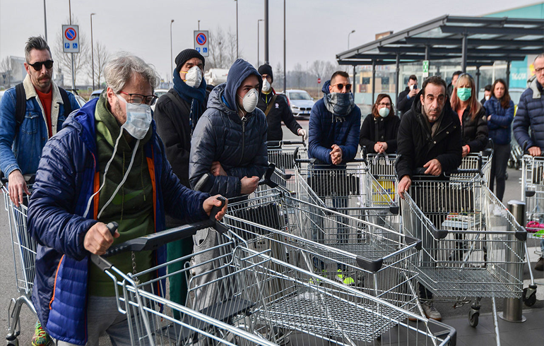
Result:
<svg viewBox="0 0 544 346"><path fill-rule="evenodd" d="M259 72L249 62L237 59L230 67L227 82L213 89L208 109L191 139L189 181L193 189L222 191L227 198L255 191L268 167L268 126L264 113L256 108L261 88ZM193 240L195 253L219 242L214 229L197 232ZM199 265L196 274L205 274L194 278L202 288L195 292L193 309L203 309L222 298L218 285L204 285L220 275L211 270L213 261L200 266L216 256L219 253L213 251L194 256L194 263Z"/></svg>

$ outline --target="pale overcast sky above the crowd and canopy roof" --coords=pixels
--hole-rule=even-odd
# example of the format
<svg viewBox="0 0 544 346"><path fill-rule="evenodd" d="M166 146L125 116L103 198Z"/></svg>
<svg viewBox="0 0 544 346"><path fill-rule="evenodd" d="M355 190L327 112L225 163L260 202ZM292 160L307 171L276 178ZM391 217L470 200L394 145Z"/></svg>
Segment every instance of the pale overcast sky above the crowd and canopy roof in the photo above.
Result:
<svg viewBox="0 0 544 346"><path fill-rule="evenodd" d="M61 25L69 16L69 0L45 0L49 45L56 42ZM264 18L264 0L239 0L239 42L244 59L256 63L257 20ZM374 40L374 34L394 32L432 18L482 16L514 6L535 4L535 0L456 1L369 1L287 0L287 67L314 60L333 61L336 54ZM270 62L283 64L283 0L269 0ZM194 47L197 20L201 30L236 29L234 0L72 0L73 16L80 32L93 37L110 53L127 51L154 64L162 78L170 79L170 20L174 56ZM0 59L24 55L25 41L44 34L43 0L0 0ZM261 23L261 61L264 59L264 25ZM53 57L54 58L54 57Z"/></svg>

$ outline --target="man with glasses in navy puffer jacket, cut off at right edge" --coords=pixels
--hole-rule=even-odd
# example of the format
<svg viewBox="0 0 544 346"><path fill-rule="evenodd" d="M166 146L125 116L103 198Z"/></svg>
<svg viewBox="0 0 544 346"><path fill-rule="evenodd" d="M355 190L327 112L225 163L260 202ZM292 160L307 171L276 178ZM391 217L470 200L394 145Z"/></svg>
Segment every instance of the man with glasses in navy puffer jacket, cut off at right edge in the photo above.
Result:
<svg viewBox="0 0 544 346"><path fill-rule="evenodd" d="M544 53L538 54L533 64L536 78L529 82L528 89L519 97L518 110L512 127L516 141L521 145L521 148L525 148L531 156L542 156L544 148ZM490 121L496 119L497 117L492 115ZM529 134L529 129L531 129L531 134ZM544 220L536 221L542 224ZM544 239L540 240L540 249L542 255L538 258L536 270L544 270Z"/></svg>

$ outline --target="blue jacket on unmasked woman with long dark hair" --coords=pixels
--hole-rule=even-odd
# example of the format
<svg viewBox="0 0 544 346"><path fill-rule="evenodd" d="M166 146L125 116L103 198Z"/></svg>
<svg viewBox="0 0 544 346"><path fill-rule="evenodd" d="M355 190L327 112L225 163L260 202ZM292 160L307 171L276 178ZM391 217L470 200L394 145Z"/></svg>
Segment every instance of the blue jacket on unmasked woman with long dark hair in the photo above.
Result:
<svg viewBox="0 0 544 346"><path fill-rule="evenodd" d="M510 100L510 105L507 109L502 108L501 103L495 96L490 97L485 101L485 113L491 116L487 121L487 129L489 130L489 138L495 144L509 144L512 140L512 120L514 120L514 102Z"/></svg>

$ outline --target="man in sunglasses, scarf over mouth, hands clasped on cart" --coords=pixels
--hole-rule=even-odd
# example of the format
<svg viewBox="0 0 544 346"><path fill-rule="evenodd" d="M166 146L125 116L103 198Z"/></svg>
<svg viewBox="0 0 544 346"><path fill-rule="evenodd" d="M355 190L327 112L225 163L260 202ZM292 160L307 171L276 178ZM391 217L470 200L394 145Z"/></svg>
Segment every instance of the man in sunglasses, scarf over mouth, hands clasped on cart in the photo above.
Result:
<svg viewBox="0 0 544 346"><path fill-rule="evenodd" d="M314 158L315 163L309 167L309 184L319 196L340 195L345 192L338 191L339 186L345 186L345 175L341 169L345 163L350 162L357 154L359 145L359 133L361 128L361 110L355 105L348 73L336 71L327 80L322 89L325 94L321 100L312 107L309 115L309 141L308 155ZM336 169L338 181L331 181L328 169ZM332 191L335 189L336 191ZM347 198L333 198L333 207L347 207ZM338 220L345 223L345 220ZM323 241L322 227L312 229L312 239ZM345 240L345 229L337 229L337 241ZM324 270L324 263L314 261L317 270ZM354 280L343 273L343 268L338 264L336 280L345 285L353 285Z"/></svg>

